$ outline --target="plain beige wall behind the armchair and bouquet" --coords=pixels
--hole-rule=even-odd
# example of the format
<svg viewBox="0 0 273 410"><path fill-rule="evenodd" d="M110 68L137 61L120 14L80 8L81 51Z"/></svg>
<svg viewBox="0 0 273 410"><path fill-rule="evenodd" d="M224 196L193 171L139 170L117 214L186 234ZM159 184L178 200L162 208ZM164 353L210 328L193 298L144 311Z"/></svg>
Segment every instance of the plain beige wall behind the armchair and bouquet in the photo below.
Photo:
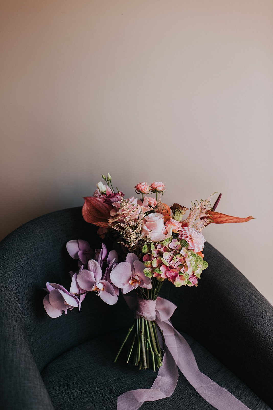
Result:
<svg viewBox="0 0 273 410"><path fill-rule="evenodd" d="M273 303L272 0L1 0L1 235L101 173L222 192L206 238ZM232 292L232 289L230 289Z"/></svg>

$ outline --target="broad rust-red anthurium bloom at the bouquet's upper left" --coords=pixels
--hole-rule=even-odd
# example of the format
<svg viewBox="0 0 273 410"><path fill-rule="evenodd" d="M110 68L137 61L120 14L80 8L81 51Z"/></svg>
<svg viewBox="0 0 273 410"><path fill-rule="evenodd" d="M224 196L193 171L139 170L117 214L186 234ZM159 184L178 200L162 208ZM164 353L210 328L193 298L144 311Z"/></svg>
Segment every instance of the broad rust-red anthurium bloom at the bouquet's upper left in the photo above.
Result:
<svg viewBox="0 0 273 410"><path fill-rule="evenodd" d="M85 196L83 209L81 211L83 219L93 225L108 227L108 219L110 218L110 210L112 206L107 205L100 198L94 196Z"/></svg>

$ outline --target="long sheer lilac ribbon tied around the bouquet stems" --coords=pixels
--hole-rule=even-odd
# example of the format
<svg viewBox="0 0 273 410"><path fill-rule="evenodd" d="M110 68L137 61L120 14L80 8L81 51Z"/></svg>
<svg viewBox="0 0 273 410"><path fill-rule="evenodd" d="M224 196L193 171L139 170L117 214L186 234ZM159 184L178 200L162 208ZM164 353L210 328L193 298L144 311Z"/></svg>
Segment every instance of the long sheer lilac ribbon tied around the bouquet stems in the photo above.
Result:
<svg viewBox="0 0 273 410"><path fill-rule="evenodd" d="M129 296L125 297L125 301L131 309L136 308L135 317L142 316L147 320L153 320L149 317L155 317L157 324L163 330L166 351L162 367L159 368L158 376L152 387L150 389L130 390L121 394L118 397L117 410L137 410L144 401L170 397L178 381L177 367L200 396L216 409L250 410L228 390L217 385L198 369L192 349L169 320L176 309L172 302L158 297L156 304L152 305L150 301L143 301L140 298L133 299ZM155 312L152 309L155 309Z"/></svg>

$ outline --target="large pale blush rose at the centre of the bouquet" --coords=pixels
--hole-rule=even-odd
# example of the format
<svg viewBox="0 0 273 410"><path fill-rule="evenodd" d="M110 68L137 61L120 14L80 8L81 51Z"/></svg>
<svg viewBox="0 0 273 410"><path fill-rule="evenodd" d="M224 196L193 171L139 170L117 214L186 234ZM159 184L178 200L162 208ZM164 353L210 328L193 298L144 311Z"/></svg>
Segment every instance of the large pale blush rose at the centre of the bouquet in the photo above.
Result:
<svg viewBox="0 0 273 410"><path fill-rule="evenodd" d="M162 214L149 214L143 219L141 237L148 235L153 242L161 242L172 236L172 227L164 225Z"/></svg>

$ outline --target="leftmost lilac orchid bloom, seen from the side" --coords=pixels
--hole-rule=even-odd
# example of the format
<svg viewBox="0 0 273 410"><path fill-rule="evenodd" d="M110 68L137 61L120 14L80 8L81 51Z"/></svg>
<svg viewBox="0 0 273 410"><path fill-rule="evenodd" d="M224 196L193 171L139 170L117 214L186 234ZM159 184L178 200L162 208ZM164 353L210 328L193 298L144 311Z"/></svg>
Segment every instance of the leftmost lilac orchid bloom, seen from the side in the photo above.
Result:
<svg viewBox="0 0 273 410"><path fill-rule="evenodd" d="M73 307L80 309L81 302L77 296L70 294L63 286L58 283L47 282L45 288L49 294L44 297L44 307L49 317L59 317L67 310L72 310Z"/></svg>

